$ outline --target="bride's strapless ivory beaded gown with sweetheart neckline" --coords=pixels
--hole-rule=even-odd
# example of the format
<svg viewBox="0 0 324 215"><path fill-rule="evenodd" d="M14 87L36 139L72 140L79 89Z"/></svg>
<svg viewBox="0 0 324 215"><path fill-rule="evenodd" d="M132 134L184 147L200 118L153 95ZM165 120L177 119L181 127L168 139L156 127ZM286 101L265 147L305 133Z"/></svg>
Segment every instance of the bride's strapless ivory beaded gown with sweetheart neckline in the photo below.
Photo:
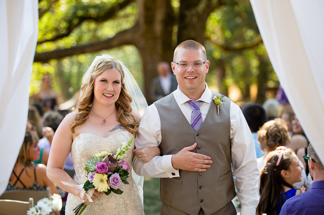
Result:
<svg viewBox="0 0 324 215"><path fill-rule="evenodd" d="M85 162L90 160L92 156L101 151L107 151L114 154L122 142L128 142L133 135L128 131L121 131L107 138L100 138L92 134L80 134L77 136L71 147L71 157L75 168L75 181L79 184L84 184L87 181L87 171ZM124 160L127 161L132 168L134 139L131 147L128 149L127 156ZM109 196L99 195L99 197L90 202L82 214L132 214L143 215L143 203L140 197L139 189L133 180L132 171L130 170L129 184L121 184L121 190L124 191L121 195L110 193ZM79 205L82 200L75 195L69 193L65 206L65 214L74 215L73 209Z"/></svg>

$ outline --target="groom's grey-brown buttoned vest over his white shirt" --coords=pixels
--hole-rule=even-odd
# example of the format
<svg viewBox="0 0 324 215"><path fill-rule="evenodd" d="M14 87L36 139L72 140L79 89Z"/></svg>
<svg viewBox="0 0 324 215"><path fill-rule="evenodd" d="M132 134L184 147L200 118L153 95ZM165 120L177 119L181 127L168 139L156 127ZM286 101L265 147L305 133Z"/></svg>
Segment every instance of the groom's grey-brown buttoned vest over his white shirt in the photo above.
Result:
<svg viewBox="0 0 324 215"><path fill-rule="evenodd" d="M213 97L220 96L212 91ZM159 200L188 214L197 215L200 208L212 214L235 196L231 169L230 99L224 97L219 107L212 101L207 116L196 132L181 112L173 93L154 104L161 119L162 155L176 154L197 143L192 152L212 158L205 172L179 170L180 177L160 179Z"/></svg>

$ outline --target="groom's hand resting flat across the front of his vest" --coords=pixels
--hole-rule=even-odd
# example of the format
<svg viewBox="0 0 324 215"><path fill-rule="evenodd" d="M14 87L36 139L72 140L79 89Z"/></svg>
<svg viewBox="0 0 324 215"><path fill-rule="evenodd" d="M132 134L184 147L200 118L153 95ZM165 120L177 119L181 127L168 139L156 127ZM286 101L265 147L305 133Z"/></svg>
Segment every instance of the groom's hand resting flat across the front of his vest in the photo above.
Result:
<svg viewBox="0 0 324 215"><path fill-rule="evenodd" d="M209 164L213 163L211 157L191 152L196 146L197 143L194 143L173 155L171 158L173 168L196 172L204 172L210 168Z"/></svg>

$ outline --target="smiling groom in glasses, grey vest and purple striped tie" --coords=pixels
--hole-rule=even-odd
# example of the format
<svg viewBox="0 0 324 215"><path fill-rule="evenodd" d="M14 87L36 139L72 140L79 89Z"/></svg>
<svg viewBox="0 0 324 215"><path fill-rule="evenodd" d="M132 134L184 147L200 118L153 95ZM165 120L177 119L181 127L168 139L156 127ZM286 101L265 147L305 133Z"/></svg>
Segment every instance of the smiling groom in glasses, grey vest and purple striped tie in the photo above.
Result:
<svg viewBox="0 0 324 215"><path fill-rule="evenodd" d="M136 148L158 146L162 156L134 159L134 171L161 178L161 214L235 215L233 176L241 215L255 214L259 171L240 108L223 97L217 113L213 98L221 95L205 83L209 61L200 43L182 42L173 61L178 88L146 108L136 135Z"/></svg>

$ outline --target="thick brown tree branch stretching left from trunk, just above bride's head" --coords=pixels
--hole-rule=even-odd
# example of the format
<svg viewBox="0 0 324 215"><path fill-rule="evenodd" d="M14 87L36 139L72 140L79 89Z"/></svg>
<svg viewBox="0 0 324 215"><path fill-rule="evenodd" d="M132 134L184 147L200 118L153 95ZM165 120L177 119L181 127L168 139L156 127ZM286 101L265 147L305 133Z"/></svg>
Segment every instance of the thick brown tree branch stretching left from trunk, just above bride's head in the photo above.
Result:
<svg viewBox="0 0 324 215"><path fill-rule="evenodd" d="M46 62L50 59L58 59L66 56L79 55L83 53L96 52L126 44L135 44L138 36L138 26L117 33L114 37L104 41L75 46L72 48L58 49L51 52L35 53L34 62Z"/></svg>

